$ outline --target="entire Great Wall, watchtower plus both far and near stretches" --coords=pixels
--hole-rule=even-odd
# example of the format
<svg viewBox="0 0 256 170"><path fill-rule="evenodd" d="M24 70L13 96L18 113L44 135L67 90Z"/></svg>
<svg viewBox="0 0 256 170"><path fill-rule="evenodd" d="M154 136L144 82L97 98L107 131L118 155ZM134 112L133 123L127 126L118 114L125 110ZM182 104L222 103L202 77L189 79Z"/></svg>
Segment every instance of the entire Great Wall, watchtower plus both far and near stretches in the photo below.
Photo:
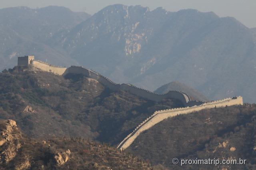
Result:
<svg viewBox="0 0 256 170"><path fill-rule="evenodd" d="M98 82L102 83L104 86L107 86L110 90L113 91L125 90L130 92L131 94L153 101L160 101L172 98L180 100L182 104L185 106L182 108L155 111L153 115L151 115L150 117L148 117L148 119L140 123L140 125L138 125L132 133L130 133L126 138L124 138L124 140L117 147L120 150L124 150L127 147L129 147L136 139L136 137L140 135L140 133L149 129L150 127L154 126L160 121L167 119L168 117L174 117L179 114L188 114L194 111L200 111L202 109L214 107L243 105L243 99L241 96L205 103L203 101L191 100L190 96L176 90L171 90L165 94L156 94L154 92L150 92L148 90L133 86L132 84L116 84L108 78L106 78L105 76L102 76L98 72L95 72L88 68L84 68L82 66L70 66L69 68L53 66L42 61L34 60L34 56L18 57L18 66L29 66L34 70L39 69L62 76L66 76L67 74L82 74L88 78L97 80Z"/></svg>

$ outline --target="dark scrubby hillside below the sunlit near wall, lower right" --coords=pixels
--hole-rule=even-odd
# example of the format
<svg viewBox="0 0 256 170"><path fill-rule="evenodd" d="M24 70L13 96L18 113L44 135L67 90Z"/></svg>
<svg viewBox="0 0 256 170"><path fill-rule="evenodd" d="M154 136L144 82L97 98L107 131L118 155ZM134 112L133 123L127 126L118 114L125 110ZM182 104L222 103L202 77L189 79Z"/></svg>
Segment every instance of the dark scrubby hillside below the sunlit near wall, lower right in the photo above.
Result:
<svg viewBox="0 0 256 170"><path fill-rule="evenodd" d="M170 169L255 169L256 105L202 110L166 119L128 148ZM172 159L246 159L245 165L179 165Z"/></svg>

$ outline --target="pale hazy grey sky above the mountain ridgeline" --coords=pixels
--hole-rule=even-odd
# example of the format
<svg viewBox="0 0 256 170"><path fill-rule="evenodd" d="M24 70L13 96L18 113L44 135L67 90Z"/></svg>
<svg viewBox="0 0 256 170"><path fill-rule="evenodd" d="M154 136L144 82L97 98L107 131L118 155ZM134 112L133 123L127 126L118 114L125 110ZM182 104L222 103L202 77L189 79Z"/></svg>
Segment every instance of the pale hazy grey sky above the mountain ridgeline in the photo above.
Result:
<svg viewBox="0 0 256 170"><path fill-rule="evenodd" d="M112 4L142 5L150 10L162 6L176 12L181 9L213 11L218 16L232 16L247 27L256 27L256 0L1 0L0 8L28 6L41 8L50 5L65 6L72 11L94 14Z"/></svg>

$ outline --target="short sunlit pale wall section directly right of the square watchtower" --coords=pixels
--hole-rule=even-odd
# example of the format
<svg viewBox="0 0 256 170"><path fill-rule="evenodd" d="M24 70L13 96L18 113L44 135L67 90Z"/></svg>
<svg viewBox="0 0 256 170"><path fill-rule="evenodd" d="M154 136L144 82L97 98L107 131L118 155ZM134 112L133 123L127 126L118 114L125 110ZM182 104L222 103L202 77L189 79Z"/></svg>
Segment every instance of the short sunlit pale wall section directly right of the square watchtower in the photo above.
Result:
<svg viewBox="0 0 256 170"><path fill-rule="evenodd" d="M34 68L39 68L40 70L52 72L54 74L62 75L66 71L67 68L53 66L51 64L45 63L43 61L34 60L31 62L30 66Z"/></svg>

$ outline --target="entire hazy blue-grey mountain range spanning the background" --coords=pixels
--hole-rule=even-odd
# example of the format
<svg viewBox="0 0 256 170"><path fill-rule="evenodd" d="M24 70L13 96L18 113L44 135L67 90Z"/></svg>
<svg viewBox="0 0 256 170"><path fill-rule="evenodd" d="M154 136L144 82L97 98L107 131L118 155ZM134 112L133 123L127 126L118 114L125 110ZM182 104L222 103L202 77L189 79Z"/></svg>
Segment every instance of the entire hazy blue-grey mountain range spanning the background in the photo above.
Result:
<svg viewBox="0 0 256 170"><path fill-rule="evenodd" d="M256 31L234 18L115 4L87 19L48 8L57 10L0 10L0 68L16 63L15 55L33 53L148 90L178 80L212 100L242 95L256 101Z"/></svg>

